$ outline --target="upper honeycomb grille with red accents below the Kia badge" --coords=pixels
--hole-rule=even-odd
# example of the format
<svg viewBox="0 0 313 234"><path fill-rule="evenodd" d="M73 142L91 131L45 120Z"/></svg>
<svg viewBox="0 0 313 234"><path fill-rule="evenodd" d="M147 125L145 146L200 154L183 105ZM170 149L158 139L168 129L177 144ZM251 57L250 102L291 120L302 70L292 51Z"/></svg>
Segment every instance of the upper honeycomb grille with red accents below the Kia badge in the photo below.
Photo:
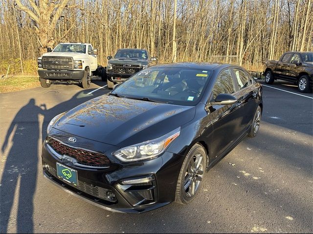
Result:
<svg viewBox="0 0 313 234"><path fill-rule="evenodd" d="M107 156L88 150L77 149L63 144L52 137L47 137L47 144L60 155L74 157L78 163L86 166L108 166L110 160Z"/></svg>

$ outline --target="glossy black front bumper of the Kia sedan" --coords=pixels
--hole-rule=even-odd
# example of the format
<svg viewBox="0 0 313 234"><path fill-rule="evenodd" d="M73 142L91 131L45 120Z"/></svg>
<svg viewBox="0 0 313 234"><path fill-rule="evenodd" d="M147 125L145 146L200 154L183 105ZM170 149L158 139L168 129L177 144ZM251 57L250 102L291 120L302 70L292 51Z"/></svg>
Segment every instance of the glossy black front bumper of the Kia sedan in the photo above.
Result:
<svg viewBox="0 0 313 234"><path fill-rule="evenodd" d="M67 193L78 196L98 207L114 212L142 213L157 209L175 200L182 156L165 152L155 159L132 164L116 163L117 159L110 159L112 159L112 165L107 169L78 167L66 160L60 160L54 152L51 152L46 143L43 145L42 160L45 178L66 190ZM77 170L78 187L68 184L55 175L57 162ZM153 182L149 185L141 184L141 187L122 183L126 179L139 177L152 177ZM103 199L103 191L111 191L115 195L115 200ZM142 202L142 193L151 195L153 200Z"/></svg>

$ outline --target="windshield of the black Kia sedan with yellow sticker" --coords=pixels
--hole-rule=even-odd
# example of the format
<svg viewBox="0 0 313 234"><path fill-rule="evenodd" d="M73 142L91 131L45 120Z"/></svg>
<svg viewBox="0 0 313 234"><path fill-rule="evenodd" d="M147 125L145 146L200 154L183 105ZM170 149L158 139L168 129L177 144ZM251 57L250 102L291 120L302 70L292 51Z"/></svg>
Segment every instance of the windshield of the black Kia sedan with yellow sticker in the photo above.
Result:
<svg viewBox="0 0 313 234"><path fill-rule="evenodd" d="M196 105L212 71L189 68L147 68L120 84L112 95L175 105Z"/></svg>

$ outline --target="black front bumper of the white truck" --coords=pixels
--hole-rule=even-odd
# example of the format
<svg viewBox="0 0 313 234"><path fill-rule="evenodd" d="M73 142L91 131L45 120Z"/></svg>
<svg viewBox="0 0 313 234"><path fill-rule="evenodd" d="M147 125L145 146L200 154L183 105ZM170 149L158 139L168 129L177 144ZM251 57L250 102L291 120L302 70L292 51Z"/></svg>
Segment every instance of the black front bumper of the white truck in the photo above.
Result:
<svg viewBox="0 0 313 234"><path fill-rule="evenodd" d="M51 80L80 80L84 77L85 71L52 71L39 69L38 75L40 78Z"/></svg>

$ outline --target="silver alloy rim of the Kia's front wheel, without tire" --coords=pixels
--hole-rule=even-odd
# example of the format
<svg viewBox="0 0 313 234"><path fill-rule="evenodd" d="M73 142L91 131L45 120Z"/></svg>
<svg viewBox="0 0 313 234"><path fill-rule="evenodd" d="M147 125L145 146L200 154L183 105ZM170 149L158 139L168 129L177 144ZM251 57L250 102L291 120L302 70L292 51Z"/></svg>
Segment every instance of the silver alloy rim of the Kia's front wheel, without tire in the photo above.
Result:
<svg viewBox="0 0 313 234"><path fill-rule="evenodd" d="M198 153L190 159L185 172L184 190L187 197L192 197L197 193L202 177L203 156Z"/></svg>

